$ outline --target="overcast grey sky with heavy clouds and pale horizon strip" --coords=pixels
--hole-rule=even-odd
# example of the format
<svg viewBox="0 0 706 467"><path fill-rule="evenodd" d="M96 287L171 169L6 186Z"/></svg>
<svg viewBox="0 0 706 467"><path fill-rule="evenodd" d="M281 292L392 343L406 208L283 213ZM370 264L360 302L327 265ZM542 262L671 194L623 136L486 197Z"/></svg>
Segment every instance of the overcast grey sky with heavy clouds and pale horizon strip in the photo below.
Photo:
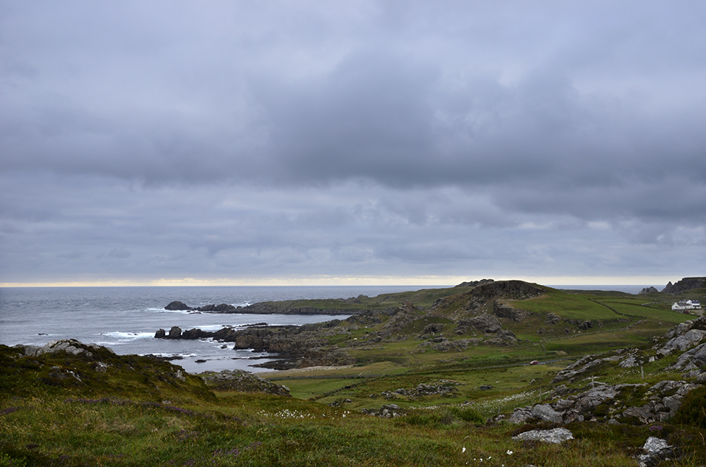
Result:
<svg viewBox="0 0 706 467"><path fill-rule="evenodd" d="M0 1L0 284L706 275L706 2Z"/></svg>

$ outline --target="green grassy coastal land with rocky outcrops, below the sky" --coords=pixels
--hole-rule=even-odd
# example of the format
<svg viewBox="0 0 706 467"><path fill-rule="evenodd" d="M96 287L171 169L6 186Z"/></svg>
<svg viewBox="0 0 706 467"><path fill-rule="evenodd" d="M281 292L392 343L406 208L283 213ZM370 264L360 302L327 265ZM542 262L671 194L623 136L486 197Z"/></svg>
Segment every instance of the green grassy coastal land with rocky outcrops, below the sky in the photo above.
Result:
<svg viewBox="0 0 706 467"><path fill-rule="evenodd" d="M350 316L220 334L301 347L258 376L0 346L0 466L704 465L706 318L671 311L704 296L484 280L268 303Z"/></svg>

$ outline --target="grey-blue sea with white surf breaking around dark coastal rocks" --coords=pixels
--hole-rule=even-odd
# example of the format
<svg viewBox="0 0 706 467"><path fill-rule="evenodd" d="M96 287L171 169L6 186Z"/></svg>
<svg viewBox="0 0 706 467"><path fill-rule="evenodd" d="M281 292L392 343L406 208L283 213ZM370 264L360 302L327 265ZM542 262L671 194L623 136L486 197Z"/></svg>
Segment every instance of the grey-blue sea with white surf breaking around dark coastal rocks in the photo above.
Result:
<svg viewBox="0 0 706 467"><path fill-rule="evenodd" d="M233 344L213 339L155 339L167 332L198 327L216 331L266 322L268 325L304 325L346 315L249 315L168 311L179 300L196 308L229 303L245 306L262 301L299 298L378 296L445 286L202 286L202 287L6 287L0 288L0 344L43 346L59 339L112 348L120 355L152 354L174 358L187 372L206 370L271 371L253 365L276 356L253 350L234 350ZM640 286L554 286L557 289L618 290L638 293Z"/></svg>

